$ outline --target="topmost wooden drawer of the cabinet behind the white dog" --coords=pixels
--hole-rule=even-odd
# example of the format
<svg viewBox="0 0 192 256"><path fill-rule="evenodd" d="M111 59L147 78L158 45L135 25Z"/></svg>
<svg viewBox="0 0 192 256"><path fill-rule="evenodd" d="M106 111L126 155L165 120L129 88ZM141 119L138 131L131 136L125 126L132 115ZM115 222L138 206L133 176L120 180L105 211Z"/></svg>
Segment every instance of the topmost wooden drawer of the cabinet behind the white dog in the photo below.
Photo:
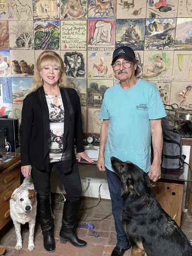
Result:
<svg viewBox="0 0 192 256"><path fill-rule="evenodd" d="M20 179L20 165L0 175L0 193Z"/></svg>

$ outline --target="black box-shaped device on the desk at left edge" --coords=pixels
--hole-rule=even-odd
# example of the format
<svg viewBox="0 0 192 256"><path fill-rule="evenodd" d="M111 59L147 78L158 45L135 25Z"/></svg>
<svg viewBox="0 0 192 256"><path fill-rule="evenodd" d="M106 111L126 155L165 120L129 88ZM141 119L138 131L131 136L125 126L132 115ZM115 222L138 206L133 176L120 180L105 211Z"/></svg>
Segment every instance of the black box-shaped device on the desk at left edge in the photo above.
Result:
<svg viewBox="0 0 192 256"><path fill-rule="evenodd" d="M0 127L7 128L7 141L12 146L12 152L20 149L19 119L0 118Z"/></svg>

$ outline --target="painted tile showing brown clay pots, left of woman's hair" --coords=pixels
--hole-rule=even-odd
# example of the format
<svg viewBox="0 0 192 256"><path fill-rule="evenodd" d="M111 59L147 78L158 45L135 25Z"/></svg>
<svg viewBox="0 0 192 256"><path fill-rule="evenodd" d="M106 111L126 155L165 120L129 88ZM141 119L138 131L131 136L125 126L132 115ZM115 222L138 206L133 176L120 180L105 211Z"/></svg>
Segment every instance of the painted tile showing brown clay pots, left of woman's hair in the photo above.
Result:
<svg viewBox="0 0 192 256"><path fill-rule="evenodd" d="M32 77L35 70L34 50L10 50L12 76Z"/></svg>

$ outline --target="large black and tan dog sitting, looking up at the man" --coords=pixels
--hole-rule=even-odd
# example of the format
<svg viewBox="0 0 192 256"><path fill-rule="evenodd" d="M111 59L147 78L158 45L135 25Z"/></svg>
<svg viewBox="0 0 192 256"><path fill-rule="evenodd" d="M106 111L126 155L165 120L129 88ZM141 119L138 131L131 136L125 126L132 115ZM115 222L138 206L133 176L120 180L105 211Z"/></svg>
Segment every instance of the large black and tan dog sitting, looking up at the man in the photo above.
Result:
<svg viewBox="0 0 192 256"><path fill-rule="evenodd" d="M153 197L150 179L135 164L111 157L123 183L122 224L133 256L192 256L192 245L177 223Z"/></svg>

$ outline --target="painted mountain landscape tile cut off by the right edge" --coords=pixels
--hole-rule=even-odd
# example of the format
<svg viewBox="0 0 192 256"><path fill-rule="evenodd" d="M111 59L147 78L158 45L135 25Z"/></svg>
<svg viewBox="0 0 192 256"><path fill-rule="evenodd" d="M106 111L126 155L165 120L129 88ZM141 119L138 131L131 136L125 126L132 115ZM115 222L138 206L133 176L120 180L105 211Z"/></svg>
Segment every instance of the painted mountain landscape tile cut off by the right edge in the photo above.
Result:
<svg viewBox="0 0 192 256"><path fill-rule="evenodd" d="M175 50L192 50L192 17L177 18Z"/></svg>

